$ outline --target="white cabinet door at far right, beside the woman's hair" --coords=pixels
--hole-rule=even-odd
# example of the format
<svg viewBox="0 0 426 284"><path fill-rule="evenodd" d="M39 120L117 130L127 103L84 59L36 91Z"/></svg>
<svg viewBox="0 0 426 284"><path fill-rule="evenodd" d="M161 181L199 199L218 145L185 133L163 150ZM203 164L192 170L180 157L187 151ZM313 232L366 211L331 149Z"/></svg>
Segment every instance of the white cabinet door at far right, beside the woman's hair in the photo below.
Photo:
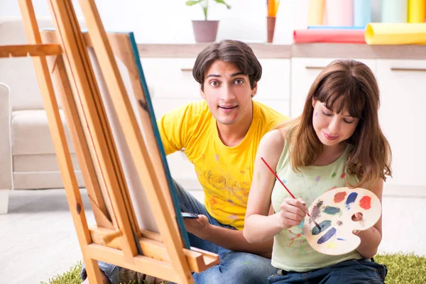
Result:
<svg viewBox="0 0 426 284"><path fill-rule="evenodd" d="M391 144L386 185L426 187L426 60L377 60L380 123Z"/></svg>

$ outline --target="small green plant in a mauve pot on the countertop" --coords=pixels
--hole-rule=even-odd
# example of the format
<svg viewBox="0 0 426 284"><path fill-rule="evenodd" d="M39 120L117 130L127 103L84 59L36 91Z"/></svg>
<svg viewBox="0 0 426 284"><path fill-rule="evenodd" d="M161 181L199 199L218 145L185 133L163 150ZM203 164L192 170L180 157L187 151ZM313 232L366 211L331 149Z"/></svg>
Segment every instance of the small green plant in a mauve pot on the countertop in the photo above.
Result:
<svg viewBox="0 0 426 284"><path fill-rule="evenodd" d="M231 6L225 3L224 0L212 0L218 4L224 4L227 9L231 9ZM194 28L195 41L197 43L209 43L216 40L217 28L219 21L207 20L207 14L209 11L209 0L189 0L186 2L187 6L193 6L200 4L204 13L204 20L192 21L192 28Z"/></svg>

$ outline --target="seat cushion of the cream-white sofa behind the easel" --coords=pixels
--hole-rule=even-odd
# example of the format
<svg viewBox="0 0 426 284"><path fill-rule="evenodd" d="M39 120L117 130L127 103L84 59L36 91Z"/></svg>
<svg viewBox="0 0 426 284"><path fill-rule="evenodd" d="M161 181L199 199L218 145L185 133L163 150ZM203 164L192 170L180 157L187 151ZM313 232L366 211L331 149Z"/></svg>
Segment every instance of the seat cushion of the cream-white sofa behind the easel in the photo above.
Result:
<svg viewBox="0 0 426 284"><path fill-rule="evenodd" d="M11 114L12 155L54 154L48 116L44 110L12 111ZM75 153L65 115L60 109L70 153Z"/></svg>

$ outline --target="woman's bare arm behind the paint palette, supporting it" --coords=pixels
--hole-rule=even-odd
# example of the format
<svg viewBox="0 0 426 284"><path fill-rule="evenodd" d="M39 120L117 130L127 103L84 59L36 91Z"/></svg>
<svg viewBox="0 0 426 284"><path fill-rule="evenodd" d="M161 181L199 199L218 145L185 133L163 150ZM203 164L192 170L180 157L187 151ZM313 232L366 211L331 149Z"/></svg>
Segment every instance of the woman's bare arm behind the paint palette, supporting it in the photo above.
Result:
<svg viewBox="0 0 426 284"><path fill-rule="evenodd" d="M361 185L361 187L363 187ZM375 195L377 195L380 202L382 202L382 193L383 193L383 180L378 179L371 183L371 186L366 186ZM378 245L381 243L382 239L382 216L378 219L378 222L372 226L370 229L365 231L354 231L354 234L359 236L361 239L361 244L359 244L356 249L361 256L364 258L371 258L376 255Z"/></svg>

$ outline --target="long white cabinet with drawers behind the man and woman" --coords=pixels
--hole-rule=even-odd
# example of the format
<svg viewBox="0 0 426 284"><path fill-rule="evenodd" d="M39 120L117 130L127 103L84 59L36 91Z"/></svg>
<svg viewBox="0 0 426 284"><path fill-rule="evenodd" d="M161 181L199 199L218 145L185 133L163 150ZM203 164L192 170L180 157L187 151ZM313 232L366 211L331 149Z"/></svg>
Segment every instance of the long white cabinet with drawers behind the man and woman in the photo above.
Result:
<svg viewBox="0 0 426 284"><path fill-rule="evenodd" d="M281 113L301 114L307 92L322 68L334 58L261 58L263 75L255 100ZM364 62L375 73L381 91L379 117L393 151L393 178L386 186L426 187L426 60L375 60ZM187 102L202 99L192 77L195 58L143 58L143 70L153 90L155 116ZM200 188L192 164L182 152L168 156L173 177L188 189Z"/></svg>

